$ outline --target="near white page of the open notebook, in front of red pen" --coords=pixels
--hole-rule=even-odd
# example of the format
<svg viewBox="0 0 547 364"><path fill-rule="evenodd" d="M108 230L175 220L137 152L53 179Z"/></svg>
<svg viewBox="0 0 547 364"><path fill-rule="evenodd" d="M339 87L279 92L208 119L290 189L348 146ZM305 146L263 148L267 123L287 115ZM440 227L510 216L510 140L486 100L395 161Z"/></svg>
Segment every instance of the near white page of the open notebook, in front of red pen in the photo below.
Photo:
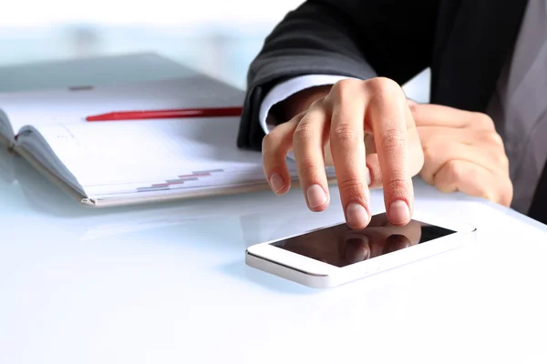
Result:
<svg viewBox="0 0 547 364"><path fill-rule="evenodd" d="M263 180L261 154L236 147L238 126L238 117L222 117L36 129L84 190L106 194Z"/></svg>

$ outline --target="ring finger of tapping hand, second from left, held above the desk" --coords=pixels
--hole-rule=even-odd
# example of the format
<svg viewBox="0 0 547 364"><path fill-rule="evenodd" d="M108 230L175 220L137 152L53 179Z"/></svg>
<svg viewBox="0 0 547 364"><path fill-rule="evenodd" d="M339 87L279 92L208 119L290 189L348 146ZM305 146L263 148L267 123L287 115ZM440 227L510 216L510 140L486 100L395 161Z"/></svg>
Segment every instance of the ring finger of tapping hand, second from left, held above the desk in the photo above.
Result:
<svg viewBox="0 0 547 364"><path fill-rule="evenodd" d="M329 203L323 155L329 129L327 111L322 103L315 104L294 129L294 159L307 206L312 211L323 211Z"/></svg>

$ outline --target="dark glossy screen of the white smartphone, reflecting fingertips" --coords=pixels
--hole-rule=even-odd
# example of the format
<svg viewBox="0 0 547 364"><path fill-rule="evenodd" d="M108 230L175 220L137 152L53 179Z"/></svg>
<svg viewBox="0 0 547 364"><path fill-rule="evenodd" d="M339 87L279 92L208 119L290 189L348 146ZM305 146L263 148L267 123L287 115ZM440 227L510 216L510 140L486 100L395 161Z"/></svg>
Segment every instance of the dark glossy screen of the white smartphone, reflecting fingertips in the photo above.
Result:
<svg viewBox="0 0 547 364"><path fill-rule="evenodd" d="M389 223L386 214L378 214L361 230L340 224L276 241L272 245L335 267L346 267L455 232L417 220L396 227Z"/></svg>

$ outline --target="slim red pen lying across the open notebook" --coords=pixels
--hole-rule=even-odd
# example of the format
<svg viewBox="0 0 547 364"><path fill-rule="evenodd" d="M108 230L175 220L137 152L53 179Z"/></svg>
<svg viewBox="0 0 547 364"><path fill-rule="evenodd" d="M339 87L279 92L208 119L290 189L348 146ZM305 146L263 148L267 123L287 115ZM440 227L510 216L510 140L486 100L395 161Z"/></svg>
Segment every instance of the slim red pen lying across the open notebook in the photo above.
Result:
<svg viewBox="0 0 547 364"><path fill-rule="evenodd" d="M183 108L168 110L115 111L86 117L86 121L119 121L142 119L169 119L179 117L241 116L241 106L212 108Z"/></svg>

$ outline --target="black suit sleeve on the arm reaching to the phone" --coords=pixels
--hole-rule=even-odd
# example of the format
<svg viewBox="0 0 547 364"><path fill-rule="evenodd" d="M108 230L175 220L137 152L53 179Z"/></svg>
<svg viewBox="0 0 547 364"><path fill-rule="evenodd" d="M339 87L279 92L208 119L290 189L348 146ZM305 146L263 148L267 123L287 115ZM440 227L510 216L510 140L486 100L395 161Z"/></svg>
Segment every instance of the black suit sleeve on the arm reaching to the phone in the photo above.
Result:
<svg viewBox="0 0 547 364"><path fill-rule="evenodd" d="M261 149L264 96L294 76L387 76L403 84L430 64L439 0L309 0L265 39L247 76L238 147Z"/></svg>

